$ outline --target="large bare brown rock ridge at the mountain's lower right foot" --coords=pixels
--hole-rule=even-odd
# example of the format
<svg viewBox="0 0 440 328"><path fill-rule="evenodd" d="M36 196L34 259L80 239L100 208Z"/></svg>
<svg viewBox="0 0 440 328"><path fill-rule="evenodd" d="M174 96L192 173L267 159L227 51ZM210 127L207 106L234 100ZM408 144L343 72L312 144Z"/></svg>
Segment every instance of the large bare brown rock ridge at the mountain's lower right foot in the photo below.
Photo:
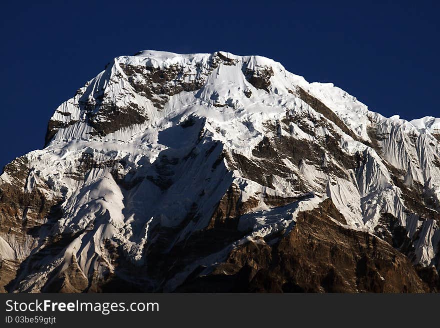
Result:
<svg viewBox="0 0 440 328"><path fill-rule="evenodd" d="M330 217L341 219L327 199L316 209L299 213L294 228L278 243L241 245L210 275L194 277L178 290L210 291L214 280L222 284L213 290L223 292L428 291L404 255L375 236L337 225Z"/></svg>

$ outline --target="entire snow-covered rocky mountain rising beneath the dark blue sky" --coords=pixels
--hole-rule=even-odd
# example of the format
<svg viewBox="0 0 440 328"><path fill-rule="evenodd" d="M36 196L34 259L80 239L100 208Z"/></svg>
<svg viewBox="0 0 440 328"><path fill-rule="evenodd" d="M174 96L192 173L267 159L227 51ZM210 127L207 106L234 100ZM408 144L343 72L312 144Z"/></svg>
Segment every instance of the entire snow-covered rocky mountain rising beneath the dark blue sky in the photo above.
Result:
<svg viewBox="0 0 440 328"><path fill-rule="evenodd" d="M5 166L0 288L437 291L439 210L440 118L260 56L145 50Z"/></svg>

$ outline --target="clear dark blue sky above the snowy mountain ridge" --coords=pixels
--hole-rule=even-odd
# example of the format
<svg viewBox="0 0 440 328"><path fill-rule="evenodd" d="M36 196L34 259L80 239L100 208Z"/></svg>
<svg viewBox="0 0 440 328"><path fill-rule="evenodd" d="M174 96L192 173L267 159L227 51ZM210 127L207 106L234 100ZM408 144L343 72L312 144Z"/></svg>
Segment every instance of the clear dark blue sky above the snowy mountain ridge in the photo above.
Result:
<svg viewBox="0 0 440 328"><path fill-rule="evenodd" d="M36 2L1 4L0 167L41 148L54 109L107 62L141 49L259 54L385 116L440 116L440 1Z"/></svg>

